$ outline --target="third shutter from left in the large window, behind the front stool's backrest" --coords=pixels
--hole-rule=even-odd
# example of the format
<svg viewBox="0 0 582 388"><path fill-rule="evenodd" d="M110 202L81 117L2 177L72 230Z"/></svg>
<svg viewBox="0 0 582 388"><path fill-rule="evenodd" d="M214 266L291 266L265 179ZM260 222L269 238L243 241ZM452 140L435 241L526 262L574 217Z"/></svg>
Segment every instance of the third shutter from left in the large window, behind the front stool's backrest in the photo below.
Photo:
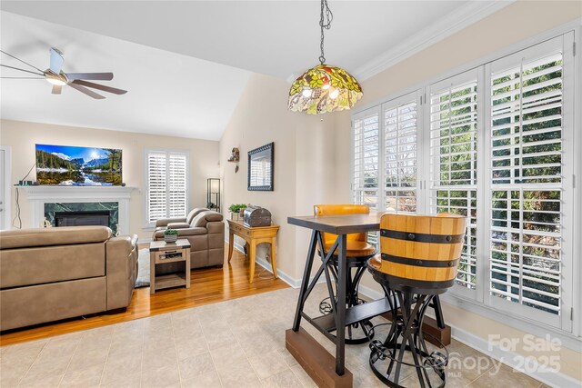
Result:
<svg viewBox="0 0 582 388"><path fill-rule="evenodd" d="M473 297L477 288L477 145L480 145L477 92L477 71L470 71L431 85L429 102L430 212L467 217L456 284Z"/></svg>

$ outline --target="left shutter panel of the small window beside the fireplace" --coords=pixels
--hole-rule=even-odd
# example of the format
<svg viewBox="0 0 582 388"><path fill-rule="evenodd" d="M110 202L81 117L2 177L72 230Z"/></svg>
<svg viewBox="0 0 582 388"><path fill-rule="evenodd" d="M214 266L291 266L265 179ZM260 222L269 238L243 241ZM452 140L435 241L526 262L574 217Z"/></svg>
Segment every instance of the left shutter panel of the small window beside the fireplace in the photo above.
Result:
<svg viewBox="0 0 582 388"><path fill-rule="evenodd" d="M166 153L147 154L147 222L155 223L167 214Z"/></svg>

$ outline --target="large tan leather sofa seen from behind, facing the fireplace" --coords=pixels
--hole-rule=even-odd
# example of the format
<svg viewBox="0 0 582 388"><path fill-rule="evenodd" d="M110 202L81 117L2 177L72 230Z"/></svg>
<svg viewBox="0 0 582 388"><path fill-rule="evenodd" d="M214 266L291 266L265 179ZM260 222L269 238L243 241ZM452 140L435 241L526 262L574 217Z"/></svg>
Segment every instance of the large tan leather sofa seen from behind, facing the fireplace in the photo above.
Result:
<svg viewBox="0 0 582 388"><path fill-rule="evenodd" d="M0 232L0 330L127 307L137 236L105 226Z"/></svg>

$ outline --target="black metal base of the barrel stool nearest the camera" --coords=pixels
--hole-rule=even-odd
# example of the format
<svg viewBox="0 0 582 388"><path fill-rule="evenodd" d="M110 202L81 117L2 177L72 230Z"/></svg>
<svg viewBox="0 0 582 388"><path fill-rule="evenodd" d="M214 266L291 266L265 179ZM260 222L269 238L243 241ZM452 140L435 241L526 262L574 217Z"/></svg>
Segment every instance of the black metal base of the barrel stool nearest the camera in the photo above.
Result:
<svg viewBox="0 0 582 388"><path fill-rule="evenodd" d="M386 385L401 388L402 368L408 366L415 369L421 388L444 387L447 348L442 346L445 353L429 353L421 330L426 308L431 305L435 295L388 290L385 285L383 288L395 318L386 340L383 343L375 340L369 345L372 351L369 360L372 371ZM412 356L412 362L405 361L406 353Z"/></svg>

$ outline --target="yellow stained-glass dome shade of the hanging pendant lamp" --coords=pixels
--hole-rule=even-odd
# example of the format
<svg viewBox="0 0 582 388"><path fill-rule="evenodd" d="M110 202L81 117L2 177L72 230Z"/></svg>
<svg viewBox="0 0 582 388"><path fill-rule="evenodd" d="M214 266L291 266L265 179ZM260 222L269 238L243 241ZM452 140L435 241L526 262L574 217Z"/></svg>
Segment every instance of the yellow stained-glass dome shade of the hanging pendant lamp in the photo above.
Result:
<svg viewBox="0 0 582 388"><path fill-rule="evenodd" d="M346 70L316 65L291 85L289 109L307 114L342 111L354 106L362 95L362 87Z"/></svg>

